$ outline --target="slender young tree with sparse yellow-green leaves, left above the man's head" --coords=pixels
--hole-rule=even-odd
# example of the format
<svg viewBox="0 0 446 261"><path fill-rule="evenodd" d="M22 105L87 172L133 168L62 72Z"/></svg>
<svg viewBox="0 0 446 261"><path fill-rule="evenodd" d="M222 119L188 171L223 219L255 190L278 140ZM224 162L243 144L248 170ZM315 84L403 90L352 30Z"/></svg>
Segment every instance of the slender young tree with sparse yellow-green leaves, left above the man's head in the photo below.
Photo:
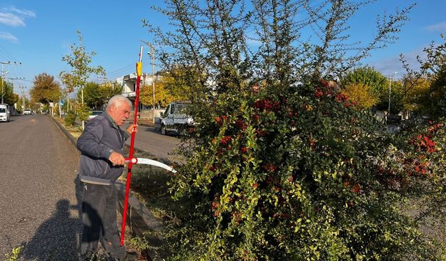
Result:
<svg viewBox="0 0 446 261"><path fill-rule="evenodd" d="M82 120L82 128L84 127L84 120L88 117L88 108L84 106L84 93L83 88L89 79L91 74L105 75L104 68L101 66L93 67L90 65L92 57L95 56L95 52L86 52L84 45L82 44L81 31L77 31L79 37L79 45L71 45L72 54L67 54L62 57L62 61L65 61L70 67L71 72L62 71L59 73L59 78L63 84L68 87L68 93L71 93L75 88L80 90L81 106L78 109L79 119Z"/></svg>

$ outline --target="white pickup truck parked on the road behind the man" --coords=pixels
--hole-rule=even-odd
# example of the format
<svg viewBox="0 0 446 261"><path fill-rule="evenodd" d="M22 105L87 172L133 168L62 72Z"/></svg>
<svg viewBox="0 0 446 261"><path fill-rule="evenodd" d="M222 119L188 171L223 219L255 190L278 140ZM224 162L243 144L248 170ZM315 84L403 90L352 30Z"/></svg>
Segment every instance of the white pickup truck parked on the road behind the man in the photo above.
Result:
<svg viewBox="0 0 446 261"><path fill-rule="evenodd" d="M171 102L167 105L166 111L161 113L161 117L155 122L161 134L185 133L188 127L194 125L194 120L186 113L187 106L190 106L190 102Z"/></svg>

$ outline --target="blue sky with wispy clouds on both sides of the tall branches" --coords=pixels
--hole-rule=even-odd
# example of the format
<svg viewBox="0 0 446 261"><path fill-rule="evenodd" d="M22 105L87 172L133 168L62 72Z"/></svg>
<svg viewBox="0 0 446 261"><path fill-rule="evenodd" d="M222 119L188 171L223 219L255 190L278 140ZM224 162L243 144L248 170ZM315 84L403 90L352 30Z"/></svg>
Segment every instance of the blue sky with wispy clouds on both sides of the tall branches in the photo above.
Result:
<svg viewBox="0 0 446 261"><path fill-rule="evenodd" d="M314 4L321 0L314 0ZM374 33L378 13L392 13L395 8L408 6L414 1L378 0L360 10L351 21L351 35L367 40ZM399 40L372 53L366 63L385 75L403 74L399 54L408 61L422 54L422 49L434 40L440 42L440 33L446 33L446 1L415 0L417 6L410 13L410 21L399 33ZM153 35L142 26L147 19L166 29L167 20L151 9L162 1L47 1L2 0L0 3L0 61L17 61L22 65L4 65L6 77L23 77L30 88L33 78L42 72L57 75L70 70L62 56L70 54L70 45L77 43L77 30L82 31L87 51L96 52L92 65L102 65L108 79L134 72L138 60L139 40L151 42ZM144 46L144 72L151 73L148 50ZM415 63L413 63L415 65ZM58 79L59 80L59 79ZM15 90L18 93L18 90Z"/></svg>

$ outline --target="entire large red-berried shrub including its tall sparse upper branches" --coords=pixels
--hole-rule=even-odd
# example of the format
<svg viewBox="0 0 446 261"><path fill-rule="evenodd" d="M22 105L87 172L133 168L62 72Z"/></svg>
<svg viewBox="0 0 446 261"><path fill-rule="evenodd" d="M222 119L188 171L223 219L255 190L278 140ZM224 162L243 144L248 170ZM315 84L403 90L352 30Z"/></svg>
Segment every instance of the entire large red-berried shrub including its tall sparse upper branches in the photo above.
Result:
<svg viewBox="0 0 446 261"><path fill-rule="evenodd" d="M175 28L152 29L166 46L158 53L166 70L184 69L176 81L190 88L197 122L170 183L192 205L180 232L164 235L173 260L441 259L444 248L403 206L440 195L443 136L397 140L321 81L392 42L407 19L410 8L378 19L376 38L352 45L346 22L369 2L173 0L160 9ZM318 40L302 39L306 29Z"/></svg>

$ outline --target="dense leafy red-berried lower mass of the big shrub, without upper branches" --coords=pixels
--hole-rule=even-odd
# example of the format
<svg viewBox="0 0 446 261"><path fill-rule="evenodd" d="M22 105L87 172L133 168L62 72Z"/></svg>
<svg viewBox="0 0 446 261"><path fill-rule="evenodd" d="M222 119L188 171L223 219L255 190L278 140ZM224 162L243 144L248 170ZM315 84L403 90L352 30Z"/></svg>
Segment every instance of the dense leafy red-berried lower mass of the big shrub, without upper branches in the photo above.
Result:
<svg viewBox="0 0 446 261"><path fill-rule="evenodd" d="M174 260L436 260L444 251L405 210L445 184L433 132L391 136L325 81L225 93L194 115L197 146L171 191L195 207L181 232L165 235Z"/></svg>

